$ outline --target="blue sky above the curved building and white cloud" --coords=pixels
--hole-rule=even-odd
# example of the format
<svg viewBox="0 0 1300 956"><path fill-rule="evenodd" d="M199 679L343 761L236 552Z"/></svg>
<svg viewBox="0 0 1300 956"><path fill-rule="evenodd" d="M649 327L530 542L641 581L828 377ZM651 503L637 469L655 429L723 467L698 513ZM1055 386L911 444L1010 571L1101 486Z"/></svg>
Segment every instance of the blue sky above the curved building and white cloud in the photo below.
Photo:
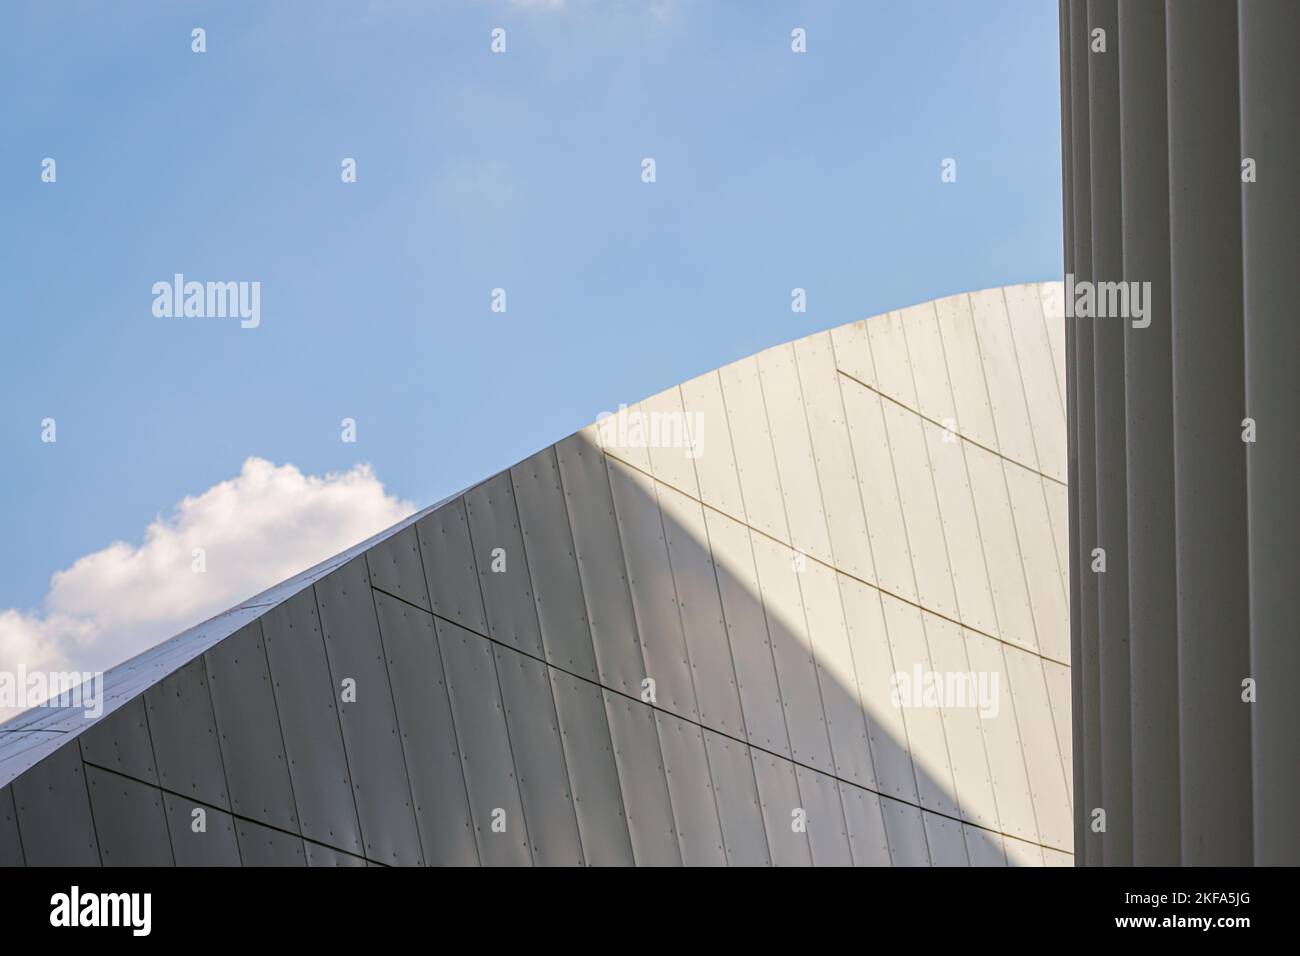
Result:
<svg viewBox="0 0 1300 956"><path fill-rule="evenodd" d="M0 609L248 457L426 505L766 346L1060 276L1057 57L1045 0L6 3ZM259 281L260 326L155 317L177 272Z"/></svg>

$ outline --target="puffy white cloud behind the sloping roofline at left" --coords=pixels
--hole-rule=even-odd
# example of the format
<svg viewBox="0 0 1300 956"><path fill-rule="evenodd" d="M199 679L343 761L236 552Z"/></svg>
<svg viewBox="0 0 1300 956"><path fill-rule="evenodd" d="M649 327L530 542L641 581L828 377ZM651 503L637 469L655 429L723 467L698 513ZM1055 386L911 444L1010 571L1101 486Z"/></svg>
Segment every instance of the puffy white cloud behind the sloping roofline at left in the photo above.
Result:
<svg viewBox="0 0 1300 956"><path fill-rule="evenodd" d="M155 518L143 544L114 541L55 572L44 610L0 610L0 672L107 670L413 511L368 464L317 477L250 458Z"/></svg>

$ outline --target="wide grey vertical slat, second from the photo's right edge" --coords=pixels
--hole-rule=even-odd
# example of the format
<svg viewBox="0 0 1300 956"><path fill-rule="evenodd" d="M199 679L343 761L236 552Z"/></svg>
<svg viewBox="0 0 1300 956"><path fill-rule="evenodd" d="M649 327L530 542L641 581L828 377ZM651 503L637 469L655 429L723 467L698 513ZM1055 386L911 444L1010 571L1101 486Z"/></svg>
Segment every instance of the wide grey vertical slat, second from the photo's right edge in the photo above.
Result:
<svg viewBox="0 0 1300 956"><path fill-rule="evenodd" d="M1182 862L1249 865L1236 4L1170 3L1165 35Z"/></svg>

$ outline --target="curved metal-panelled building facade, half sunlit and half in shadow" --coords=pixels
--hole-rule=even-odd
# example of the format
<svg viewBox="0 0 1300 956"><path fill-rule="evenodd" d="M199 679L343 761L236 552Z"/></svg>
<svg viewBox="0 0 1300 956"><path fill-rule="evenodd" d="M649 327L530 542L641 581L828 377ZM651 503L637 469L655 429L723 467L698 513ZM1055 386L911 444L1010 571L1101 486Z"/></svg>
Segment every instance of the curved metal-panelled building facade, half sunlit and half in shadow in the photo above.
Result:
<svg viewBox="0 0 1300 956"><path fill-rule="evenodd" d="M670 389L22 715L0 862L1069 865L1058 300Z"/></svg>

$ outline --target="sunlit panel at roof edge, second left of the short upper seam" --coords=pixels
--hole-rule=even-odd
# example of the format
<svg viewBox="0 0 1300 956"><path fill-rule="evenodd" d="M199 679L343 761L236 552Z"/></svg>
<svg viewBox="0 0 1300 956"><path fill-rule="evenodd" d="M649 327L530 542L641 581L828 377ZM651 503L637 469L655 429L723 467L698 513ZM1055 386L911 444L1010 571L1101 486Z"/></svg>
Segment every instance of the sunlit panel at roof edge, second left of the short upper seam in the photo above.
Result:
<svg viewBox="0 0 1300 956"><path fill-rule="evenodd" d="M790 525L790 544L805 554L829 562L831 537L822 506L816 463L812 460L812 441L809 437L803 393L794 365L794 349L781 345L759 352L755 358L767 423L772 431L785 515Z"/></svg>

